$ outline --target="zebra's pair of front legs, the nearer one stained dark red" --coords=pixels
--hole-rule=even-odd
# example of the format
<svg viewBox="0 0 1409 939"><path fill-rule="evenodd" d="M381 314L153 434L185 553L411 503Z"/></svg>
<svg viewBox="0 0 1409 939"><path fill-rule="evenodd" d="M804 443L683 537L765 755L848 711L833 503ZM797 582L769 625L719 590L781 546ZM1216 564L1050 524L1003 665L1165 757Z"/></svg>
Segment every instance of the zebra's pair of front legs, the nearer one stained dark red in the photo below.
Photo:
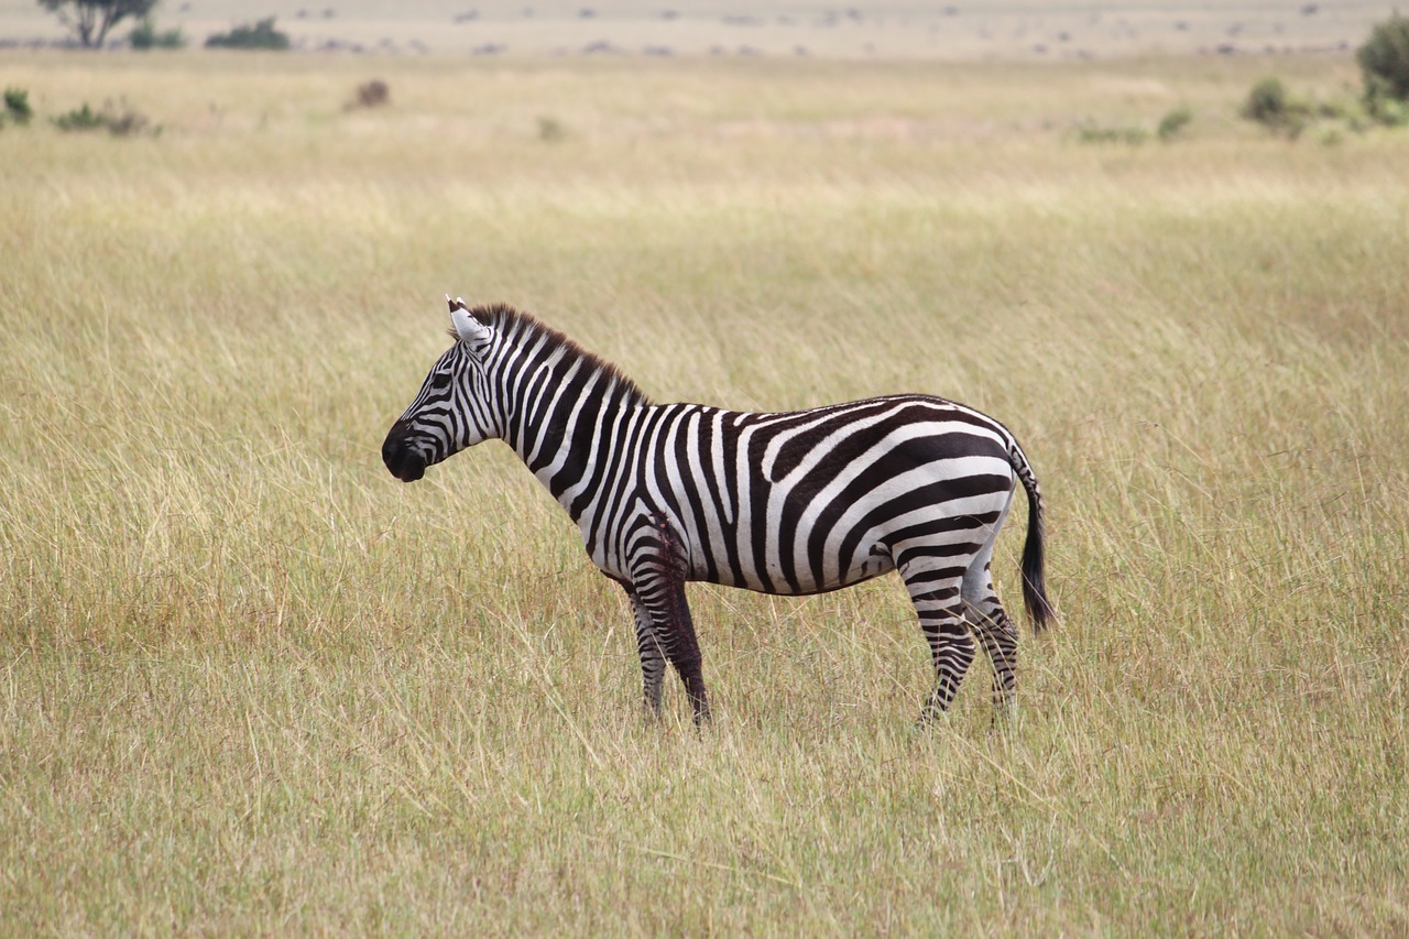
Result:
<svg viewBox="0 0 1409 939"><path fill-rule="evenodd" d="M631 550L631 582L623 587L635 615L635 643L647 706L661 712L661 675L665 660L669 660L685 682L695 723L704 723L710 715L700 646L685 601L679 541L668 526L657 523L638 536Z"/></svg>

